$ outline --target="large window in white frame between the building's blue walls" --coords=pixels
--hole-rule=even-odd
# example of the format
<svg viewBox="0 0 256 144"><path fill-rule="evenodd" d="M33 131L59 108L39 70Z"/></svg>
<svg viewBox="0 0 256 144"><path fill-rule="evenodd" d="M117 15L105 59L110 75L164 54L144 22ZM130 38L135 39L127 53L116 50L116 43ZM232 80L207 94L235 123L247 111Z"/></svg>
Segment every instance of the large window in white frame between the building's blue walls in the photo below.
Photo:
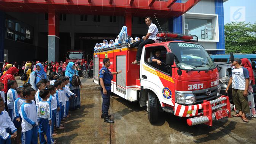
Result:
<svg viewBox="0 0 256 144"><path fill-rule="evenodd" d="M184 32L190 35L196 35L201 40L213 40L215 28L211 19L186 18Z"/></svg>

